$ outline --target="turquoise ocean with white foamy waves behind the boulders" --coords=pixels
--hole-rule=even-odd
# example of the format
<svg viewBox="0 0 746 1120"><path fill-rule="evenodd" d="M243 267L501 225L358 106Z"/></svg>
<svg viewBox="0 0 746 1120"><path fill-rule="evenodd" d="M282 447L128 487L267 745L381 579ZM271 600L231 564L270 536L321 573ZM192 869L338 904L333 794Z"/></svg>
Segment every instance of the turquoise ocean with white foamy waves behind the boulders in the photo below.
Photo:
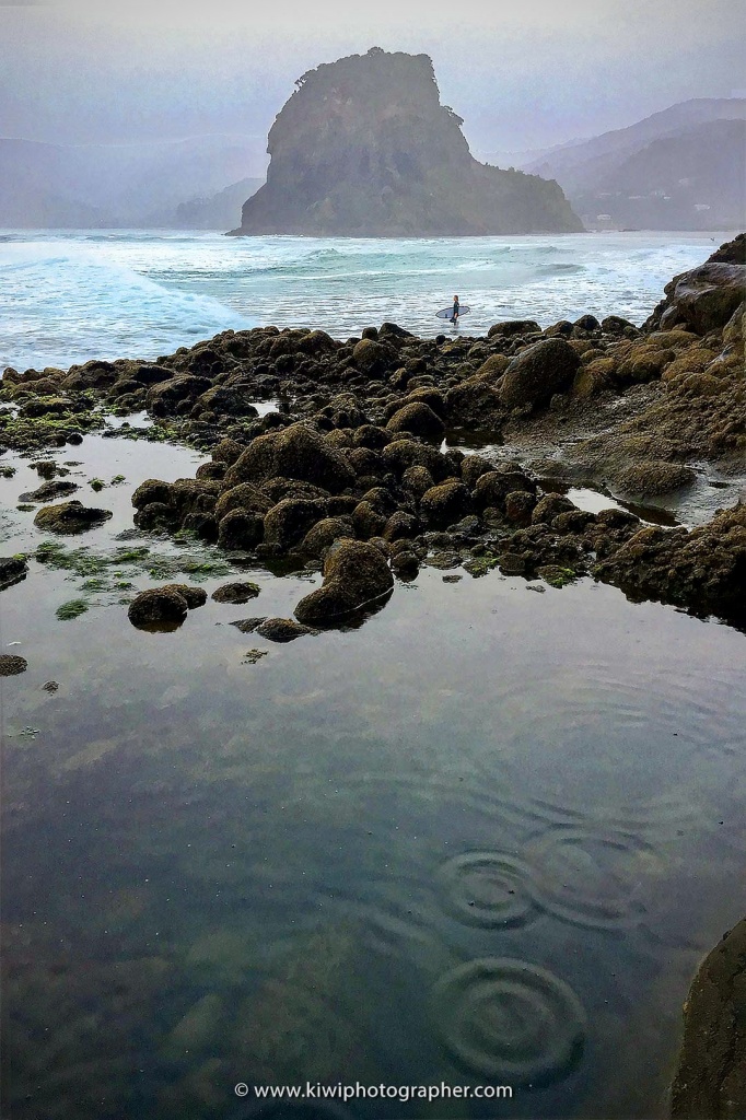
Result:
<svg viewBox="0 0 746 1120"><path fill-rule="evenodd" d="M663 286L731 234L435 239L225 237L181 231L0 231L0 371L155 358L232 328L393 320L419 335L454 292L464 334L586 311L641 324ZM447 326L447 325L446 325Z"/></svg>

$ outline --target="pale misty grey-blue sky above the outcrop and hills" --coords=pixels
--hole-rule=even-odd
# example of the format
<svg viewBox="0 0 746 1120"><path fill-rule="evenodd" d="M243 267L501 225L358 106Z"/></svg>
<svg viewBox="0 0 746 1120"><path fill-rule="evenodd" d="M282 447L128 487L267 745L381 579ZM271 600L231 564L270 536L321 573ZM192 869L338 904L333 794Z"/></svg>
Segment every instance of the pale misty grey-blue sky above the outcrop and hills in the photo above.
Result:
<svg viewBox="0 0 746 1120"><path fill-rule="evenodd" d="M0 136L255 138L320 62L431 55L478 157L743 95L744 0L0 0ZM455 18L455 13L460 13Z"/></svg>

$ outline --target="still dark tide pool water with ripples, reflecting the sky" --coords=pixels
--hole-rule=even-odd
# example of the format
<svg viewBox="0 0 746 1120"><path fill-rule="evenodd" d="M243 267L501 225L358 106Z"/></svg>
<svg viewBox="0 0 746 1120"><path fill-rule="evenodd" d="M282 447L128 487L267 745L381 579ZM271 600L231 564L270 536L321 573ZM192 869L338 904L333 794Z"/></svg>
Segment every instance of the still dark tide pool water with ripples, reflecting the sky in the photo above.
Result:
<svg viewBox="0 0 746 1120"><path fill-rule="evenodd" d="M56 457L114 511L67 542L99 554L134 486L201 461ZM48 539L8 461L6 556ZM691 976L746 903L744 636L590 580L442 577L290 645L230 623L315 572L171 634L35 560L1 592L29 664L0 679L13 1120L240 1120L236 1082L307 1081L513 1086L334 1112L361 1120L664 1114Z"/></svg>

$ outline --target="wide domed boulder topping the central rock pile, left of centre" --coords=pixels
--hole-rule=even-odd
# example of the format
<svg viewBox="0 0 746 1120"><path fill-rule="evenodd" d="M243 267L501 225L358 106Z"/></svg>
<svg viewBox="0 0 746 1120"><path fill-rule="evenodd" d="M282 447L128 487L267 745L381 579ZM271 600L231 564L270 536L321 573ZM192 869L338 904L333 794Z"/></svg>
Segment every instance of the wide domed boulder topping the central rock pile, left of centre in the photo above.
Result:
<svg viewBox="0 0 746 1120"><path fill-rule="evenodd" d="M281 476L339 493L355 475L341 451L304 423L252 440L225 475L226 488Z"/></svg>

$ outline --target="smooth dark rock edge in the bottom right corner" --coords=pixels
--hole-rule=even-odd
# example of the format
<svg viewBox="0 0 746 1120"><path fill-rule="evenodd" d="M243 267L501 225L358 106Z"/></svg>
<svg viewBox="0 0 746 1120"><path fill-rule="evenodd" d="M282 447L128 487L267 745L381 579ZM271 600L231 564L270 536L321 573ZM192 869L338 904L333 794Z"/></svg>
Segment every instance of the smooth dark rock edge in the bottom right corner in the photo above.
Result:
<svg viewBox="0 0 746 1120"><path fill-rule="evenodd" d="M746 918L700 964L684 1004L673 1120L746 1116Z"/></svg>

